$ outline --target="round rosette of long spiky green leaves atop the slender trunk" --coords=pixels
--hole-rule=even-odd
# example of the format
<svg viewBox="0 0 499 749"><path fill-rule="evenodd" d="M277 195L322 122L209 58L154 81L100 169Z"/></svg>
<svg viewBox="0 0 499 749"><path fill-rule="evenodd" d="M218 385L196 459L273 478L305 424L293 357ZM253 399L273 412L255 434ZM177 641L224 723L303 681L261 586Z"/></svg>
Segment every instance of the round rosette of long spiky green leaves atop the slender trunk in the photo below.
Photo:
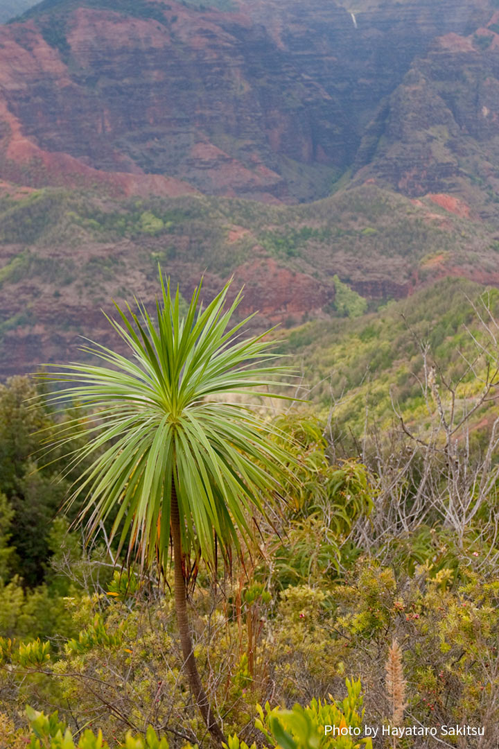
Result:
<svg viewBox="0 0 499 749"><path fill-rule="evenodd" d="M261 409L234 398L286 397L281 380L289 370L275 363L265 333L242 338L251 318L230 327L241 294L228 304L228 287L203 308L199 286L184 316L178 289L173 294L163 281L153 316L137 300L137 313L115 304L117 319L108 320L132 356L91 342L84 350L100 364L63 366L51 377L70 383L54 401L69 399L94 413L73 464L94 459L70 502L86 497L79 517L89 536L114 516L112 535L119 531L120 548L144 566L156 556L167 562L172 490L183 552L200 553L210 565L215 537L222 550L239 550L240 538L254 538L252 518L265 512L263 497L293 480L283 434L275 440ZM271 392L275 386L281 394Z"/></svg>

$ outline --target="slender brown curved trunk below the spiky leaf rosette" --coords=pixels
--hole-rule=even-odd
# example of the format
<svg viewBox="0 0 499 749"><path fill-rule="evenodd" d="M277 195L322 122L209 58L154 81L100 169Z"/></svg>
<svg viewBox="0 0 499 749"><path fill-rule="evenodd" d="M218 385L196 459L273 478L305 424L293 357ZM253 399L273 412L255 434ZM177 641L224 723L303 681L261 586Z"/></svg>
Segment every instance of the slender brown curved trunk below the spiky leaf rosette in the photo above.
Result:
<svg viewBox="0 0 499 749"><path fill-rule="evenodd" d="M177 624L180 632L184 667L187 672L192 695L200 709L201 715L203 716L203 721L206 723L206 727L209 730L209 733L211 733L213 739L215 739L215 742L220 745L221 742L226 742L226 739L213 716L208 697L206 697L206 692L201 684L196 659L194 657L194 649L192 647L189 617L187 615L186 582L182 571L182 538L180 536L179 506L177 502L177 493L174 487L171 489L170 523L171 538L174 542L175 612L177 613Z"/></svg>

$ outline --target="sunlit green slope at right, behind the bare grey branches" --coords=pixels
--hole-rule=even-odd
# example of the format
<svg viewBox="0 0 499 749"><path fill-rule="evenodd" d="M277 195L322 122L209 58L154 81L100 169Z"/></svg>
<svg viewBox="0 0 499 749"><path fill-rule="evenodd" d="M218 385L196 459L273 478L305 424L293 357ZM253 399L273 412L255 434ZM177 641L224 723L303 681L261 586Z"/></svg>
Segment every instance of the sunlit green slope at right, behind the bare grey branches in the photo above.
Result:
<svg viewBox="0 0 499 749"><path fill-rule="evenodd" d="M334 424L345 431L362 434L367 410L382 426L394 419L394 404L407 422L430 425L438 420L438 408L431 395L425 401L421 347L429 345L430 363L438 363L442 377L458 383L456 413L470 409L471 401L482 385L468 360L477 360L477 368L486 372L493 357L483 357L465 326L484 344L485 336L467 297L486 312L489 304L497 315L496 290L484 293L483 287L463 279L444 279L423 289L409 300L400 300L355 320L308 323L287 334L283 351L302 358L304 380L311 387L310 398L326 415L334 405ZM461 377L464 379L461 381ZM438 381L439 378L438 378ZM450 406L450 394L441 389L444 405ZM331 395L333 398L331 398Z"/></svg>

